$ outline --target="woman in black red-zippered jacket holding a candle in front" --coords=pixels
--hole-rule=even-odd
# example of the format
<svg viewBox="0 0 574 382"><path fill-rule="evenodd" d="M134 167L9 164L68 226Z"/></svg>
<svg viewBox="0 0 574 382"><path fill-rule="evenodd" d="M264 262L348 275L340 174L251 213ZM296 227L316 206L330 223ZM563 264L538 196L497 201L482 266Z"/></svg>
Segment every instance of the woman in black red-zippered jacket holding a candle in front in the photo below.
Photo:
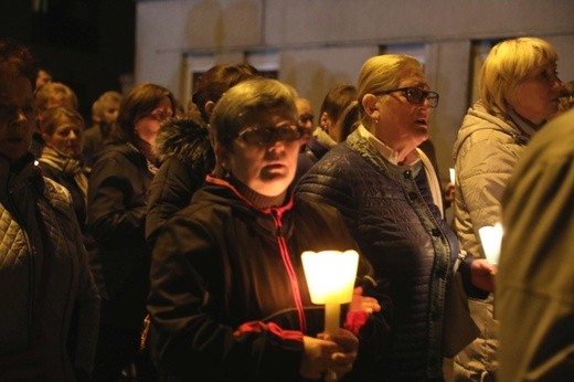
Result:
<svg viewBox="0 0 574 382"><path fill-rule="evenodd" d="M210 125L215 170L152 253L148 346L160 376L294 382L328 369L352 375L353 363L358 373L355 333L375 337L384 318L365 297L374 285L361 262L365 293L357 289L349 329L318 335L325 312L310 303L300 255L355 244L334 208L293 198L304 135L294 94L276 79L244 81L217 102Z"/></svg>

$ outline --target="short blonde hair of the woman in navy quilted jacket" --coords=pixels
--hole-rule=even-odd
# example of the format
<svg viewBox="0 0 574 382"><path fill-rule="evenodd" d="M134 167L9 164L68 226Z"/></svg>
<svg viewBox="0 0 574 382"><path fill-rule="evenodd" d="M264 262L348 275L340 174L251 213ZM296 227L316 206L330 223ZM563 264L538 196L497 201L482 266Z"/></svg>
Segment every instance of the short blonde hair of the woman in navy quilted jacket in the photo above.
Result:
<svg viewBox="0 0 574 382"><path fill-rule="evenodd" d="M378 94L396 88L404 77L424 74L423 65L405 54L381 54L365 61L357 81L359 116L363 125L368 123L362 100L366 94Z"/></svg>

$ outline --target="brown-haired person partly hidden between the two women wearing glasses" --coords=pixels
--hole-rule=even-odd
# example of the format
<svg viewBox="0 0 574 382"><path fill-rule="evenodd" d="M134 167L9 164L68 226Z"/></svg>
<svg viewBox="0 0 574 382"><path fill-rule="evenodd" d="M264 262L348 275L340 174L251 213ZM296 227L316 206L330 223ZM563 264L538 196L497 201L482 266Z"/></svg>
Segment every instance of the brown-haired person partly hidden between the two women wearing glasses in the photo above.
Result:
<svg viewBox="0 0 574 382"><path fill-rule="evenodd" d="M333 86L323 98L319 112L319 127L299 153L297 161L298 180L322 156L337 144L347 139L349 135L343 128L344 110L357 100L357 88L353 85L341 84ZM350 132L350 131L349 131Z"/></svg>

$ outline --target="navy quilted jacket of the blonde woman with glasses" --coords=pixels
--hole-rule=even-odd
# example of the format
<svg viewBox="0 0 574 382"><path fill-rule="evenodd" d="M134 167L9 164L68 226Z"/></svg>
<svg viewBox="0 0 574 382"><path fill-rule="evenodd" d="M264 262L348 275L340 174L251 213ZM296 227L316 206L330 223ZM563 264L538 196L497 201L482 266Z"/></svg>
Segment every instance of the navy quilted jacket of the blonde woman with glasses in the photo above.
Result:
<svg viewBox="0 0 574 382"><path fill-rule="evenodd" d="M424 168L392 165L359 129L301 178L296 194L337 206L389 287L394 316L381 380L440 380L444 301L458 244Z"/></svg>

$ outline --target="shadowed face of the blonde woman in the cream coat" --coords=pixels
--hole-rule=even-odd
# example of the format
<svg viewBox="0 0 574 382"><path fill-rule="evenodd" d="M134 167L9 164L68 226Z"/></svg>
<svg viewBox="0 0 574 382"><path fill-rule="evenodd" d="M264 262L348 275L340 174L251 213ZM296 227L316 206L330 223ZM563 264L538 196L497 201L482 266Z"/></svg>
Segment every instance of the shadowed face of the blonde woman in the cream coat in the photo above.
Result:
<svg viewBox="0 0 574 382"><path fill-rule="evenodd" d="M552 117L560 105L564 84L557 77L555 65L539 67L524 78L517 88L510 107L534 125Z"/></svg>

